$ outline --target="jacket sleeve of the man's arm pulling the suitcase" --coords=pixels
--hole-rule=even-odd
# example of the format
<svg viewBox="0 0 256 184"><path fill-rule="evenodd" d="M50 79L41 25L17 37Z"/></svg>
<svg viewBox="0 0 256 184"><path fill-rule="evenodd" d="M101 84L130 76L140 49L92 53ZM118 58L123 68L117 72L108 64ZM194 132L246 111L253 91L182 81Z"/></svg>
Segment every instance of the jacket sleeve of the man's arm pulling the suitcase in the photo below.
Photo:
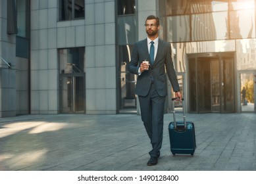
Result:
<svg viewBox="0 0 256 184"><path fill-rule="evenodd" d="M172 84L172 89L173 91L180 91L180 87L178 84L177 76L176 76L176 71L174 69L174 65L172 62L172 55L171 55L171 47L170 43L166 43L166 58L165 58L165 67L166 67L166 72L168 75L168 78L170 80L170 83Z"/></svg>

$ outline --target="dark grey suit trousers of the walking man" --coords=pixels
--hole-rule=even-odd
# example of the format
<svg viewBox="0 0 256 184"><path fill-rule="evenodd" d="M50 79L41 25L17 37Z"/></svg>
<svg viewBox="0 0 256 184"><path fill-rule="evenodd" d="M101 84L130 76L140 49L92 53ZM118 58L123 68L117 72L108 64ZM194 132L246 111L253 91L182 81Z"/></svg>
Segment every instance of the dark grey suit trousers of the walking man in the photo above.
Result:
<svg viewBox="0 0 256 184"><path fill-rule="evenodd" d="M163 142L163 116L165 98L158 95L154 83L151 84L149 94L139 96L141 120L151 141L152 150L150 156L159 157Z"/></svg>

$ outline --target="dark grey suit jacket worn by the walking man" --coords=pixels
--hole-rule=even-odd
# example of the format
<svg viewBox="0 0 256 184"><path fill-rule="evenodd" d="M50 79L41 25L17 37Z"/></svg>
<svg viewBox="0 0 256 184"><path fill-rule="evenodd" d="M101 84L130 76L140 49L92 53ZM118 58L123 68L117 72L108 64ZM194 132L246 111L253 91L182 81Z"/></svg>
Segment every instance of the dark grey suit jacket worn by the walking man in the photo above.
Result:
<svg viewBox="0 0 256 184"><path fill-rule="evenodd" d="M176 72L172 62L170 43L159 39L157 55L155 57L154 64L152 64L149 51L147 49L147 39L136 42L129 64L129 71L132 74L138 75L138 70L143 60L149 60L150 66L149 70L142 72L141 75L138 76L135 88L135 93L137 95L143 97L147 96L153 78L157 93L159 96L165 97L167 95L165 68L173 90L180 91Z"/></svg>

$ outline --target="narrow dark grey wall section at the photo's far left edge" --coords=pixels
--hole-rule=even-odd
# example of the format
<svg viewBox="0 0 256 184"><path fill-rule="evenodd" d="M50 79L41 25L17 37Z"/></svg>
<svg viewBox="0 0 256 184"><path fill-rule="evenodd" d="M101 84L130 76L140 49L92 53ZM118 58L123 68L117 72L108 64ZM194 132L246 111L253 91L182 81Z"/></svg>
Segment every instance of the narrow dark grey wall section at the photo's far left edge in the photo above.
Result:
<svg viewBox="0 0 256 184"><path fill-rule="evenodd" d="M16 115L15 37L7 34L7 0L0 1L0 117Z"/></svg>

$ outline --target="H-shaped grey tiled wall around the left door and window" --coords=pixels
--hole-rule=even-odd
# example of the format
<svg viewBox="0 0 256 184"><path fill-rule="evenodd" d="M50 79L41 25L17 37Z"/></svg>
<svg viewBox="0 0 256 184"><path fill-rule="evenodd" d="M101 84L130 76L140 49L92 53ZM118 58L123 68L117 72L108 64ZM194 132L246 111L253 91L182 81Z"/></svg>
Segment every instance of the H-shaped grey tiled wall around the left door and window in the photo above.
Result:
<svg viewBox="0 0 256 184"><path fill-rule="evenodd" d="M31 1L31 113L59 113L58 49L86 47L86 114L116 113L115 1L85 1L59 21L59 1Z"/></svg>

